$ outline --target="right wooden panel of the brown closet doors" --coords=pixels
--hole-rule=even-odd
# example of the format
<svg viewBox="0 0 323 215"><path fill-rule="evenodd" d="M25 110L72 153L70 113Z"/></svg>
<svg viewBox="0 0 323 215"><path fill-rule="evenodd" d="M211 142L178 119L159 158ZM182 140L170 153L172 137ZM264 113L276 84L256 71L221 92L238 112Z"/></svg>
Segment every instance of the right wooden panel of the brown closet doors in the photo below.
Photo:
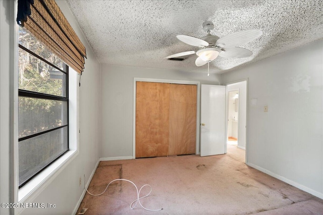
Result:
<svg viewBox="0 0 323 215"><path fill-rule="evenodd" d="M170 85L169 155L195 154L196 85Z"/></svg>

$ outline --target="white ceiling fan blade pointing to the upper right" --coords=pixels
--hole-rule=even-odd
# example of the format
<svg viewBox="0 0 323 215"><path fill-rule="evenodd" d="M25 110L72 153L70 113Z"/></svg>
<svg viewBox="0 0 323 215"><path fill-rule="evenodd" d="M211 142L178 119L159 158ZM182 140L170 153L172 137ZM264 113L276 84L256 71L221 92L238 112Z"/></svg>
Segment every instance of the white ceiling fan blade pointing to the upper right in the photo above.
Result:
<svg viewBox="0 0 323 215"><path fill-rule="evenodd" d="M253 29L253 30L245 30L239 31L227 36L221 37L216 42L216 45L220 48L231 48L235 46L239 46L241 44L245 44L254 39L257 39L262 35L262 31Z"/></svg>

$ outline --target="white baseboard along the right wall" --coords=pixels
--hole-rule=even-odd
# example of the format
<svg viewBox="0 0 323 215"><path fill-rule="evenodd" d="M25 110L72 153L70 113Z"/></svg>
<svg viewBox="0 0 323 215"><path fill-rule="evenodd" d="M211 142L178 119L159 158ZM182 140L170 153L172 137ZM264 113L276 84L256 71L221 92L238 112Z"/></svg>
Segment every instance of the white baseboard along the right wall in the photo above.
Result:
<svg viewBox="0 0 323 215"><path fill-rule="evenodd" d="M277 175L276 173L273 173L273 172L271 172L269 170L266 170L266 169L264 169L262 167L259 167L257 165L254 165L252 163L246 162L246 164L248 166L250 166L250 167L253 167L253 168L261 171L261 172L264 172L264 173L266 173L266 174L268 174L270 176L273 176L274 178L277 178L277 179L279 179L281 181L284 181L284 182L286 182L286 183L288 183L288 184L290 184L290 185L292 185L294 187L297 187L298 189L301 189L301 190L303 190L305 192L308 192L308 193L310 193L310 194L312 194L312 195L314 195L314 196L316 196L318 198L323 199L323 193L320 193L320 192L317 192L315 190L312 190L312 189L310 189L310 188L308 188L308 187L306 187L304 185L301 185L301 184L299 184L299 183L297 183L295 181L292 181L292 180L289 180L287 178L284 178L283 176Z"/></svg>

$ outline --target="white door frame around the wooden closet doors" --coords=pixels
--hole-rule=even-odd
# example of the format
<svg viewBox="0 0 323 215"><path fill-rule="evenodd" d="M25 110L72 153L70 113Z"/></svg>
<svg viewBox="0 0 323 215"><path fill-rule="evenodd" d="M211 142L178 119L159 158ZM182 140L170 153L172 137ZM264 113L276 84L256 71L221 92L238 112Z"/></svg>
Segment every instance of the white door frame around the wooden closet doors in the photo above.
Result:
<svg viewBox="0 0 323 215"><path fill-rule="evenodd" d="M152 79L152 78L133 78L133 148L132 158L136 159L136 82L155 82L155 83L169 83L182 85L196 85L196 147L195 154L200 153L200 82L198 81L184 81L184 80L170 80L170 79Z"/></svg>

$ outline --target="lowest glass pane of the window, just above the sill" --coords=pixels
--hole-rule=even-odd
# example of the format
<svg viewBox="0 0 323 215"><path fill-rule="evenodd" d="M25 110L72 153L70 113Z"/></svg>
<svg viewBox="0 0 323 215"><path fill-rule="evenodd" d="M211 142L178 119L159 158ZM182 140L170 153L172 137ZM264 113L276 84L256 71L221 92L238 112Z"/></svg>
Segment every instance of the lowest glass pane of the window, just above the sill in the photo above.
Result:
<svg viewBox="0 0 323 215"><path fill-rule="evenodd" d="M19 186L64 153L67 142L67 127L20 141Z"/></svg>

